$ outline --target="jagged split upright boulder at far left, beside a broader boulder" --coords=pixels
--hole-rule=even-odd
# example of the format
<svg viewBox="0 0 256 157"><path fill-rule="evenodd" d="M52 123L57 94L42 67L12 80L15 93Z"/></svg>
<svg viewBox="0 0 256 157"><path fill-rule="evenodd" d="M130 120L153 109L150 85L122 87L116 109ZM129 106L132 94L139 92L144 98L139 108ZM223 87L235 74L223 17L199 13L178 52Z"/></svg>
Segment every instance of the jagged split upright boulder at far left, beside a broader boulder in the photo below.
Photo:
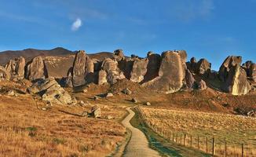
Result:
<svg viewBox="0 0 256 157"><path fill-rule="evenodd" d="M5 69L11 73L13 78L24 79L25 65L24 57L18 57L15 60L9 60L8 64L5 64Z"/></svg>

